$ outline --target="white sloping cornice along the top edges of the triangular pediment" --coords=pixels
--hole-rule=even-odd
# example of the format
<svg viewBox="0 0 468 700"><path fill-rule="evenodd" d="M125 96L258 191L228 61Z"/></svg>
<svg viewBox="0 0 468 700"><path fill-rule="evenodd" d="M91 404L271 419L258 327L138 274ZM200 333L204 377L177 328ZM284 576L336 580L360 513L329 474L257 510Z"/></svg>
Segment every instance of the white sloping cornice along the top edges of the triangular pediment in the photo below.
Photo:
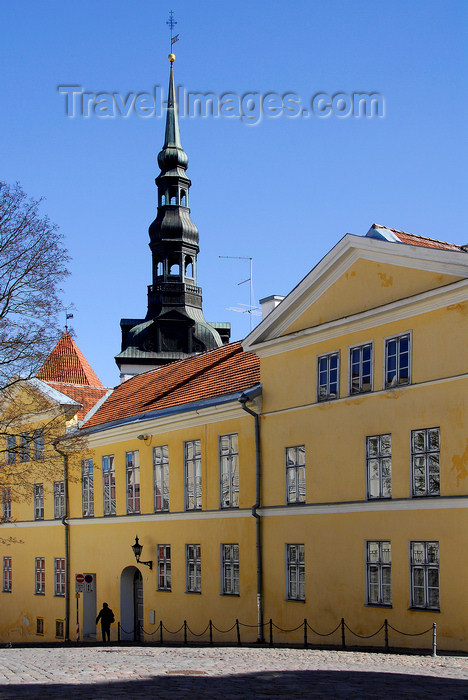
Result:
<svg viewBox="0 0 468 700"><path fill-rule="evenodd" d="M247 336L245 351L256 351L257 344L284 333L358 259L412 270L424 270L454 277L468 276L465 253L389 243L365 236L346 234L309 272L269 316Z"/></svg>

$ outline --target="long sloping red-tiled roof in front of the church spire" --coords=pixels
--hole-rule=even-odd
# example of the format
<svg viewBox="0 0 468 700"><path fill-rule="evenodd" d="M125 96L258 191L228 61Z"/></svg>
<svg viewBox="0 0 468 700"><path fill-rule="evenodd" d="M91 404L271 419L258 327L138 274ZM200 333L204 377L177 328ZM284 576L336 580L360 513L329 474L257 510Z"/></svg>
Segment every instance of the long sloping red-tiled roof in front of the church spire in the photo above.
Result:
<svg viewBox="0 0 468 700"><path fill-rule="evenodd" d="M192 401L244 391L260 381L260 361L240 342L173 362L128 379L85 428Z"/></svg>

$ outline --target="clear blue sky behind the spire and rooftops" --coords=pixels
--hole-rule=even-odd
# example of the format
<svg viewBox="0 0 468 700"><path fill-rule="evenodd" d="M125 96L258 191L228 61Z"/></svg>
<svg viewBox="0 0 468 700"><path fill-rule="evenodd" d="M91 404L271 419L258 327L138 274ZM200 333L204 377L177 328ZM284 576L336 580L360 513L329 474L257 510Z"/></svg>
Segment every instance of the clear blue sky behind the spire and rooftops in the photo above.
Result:
<svg viewBox="0 0 468 700"><path fill-rule="evenodd" d="M176 83L192 92L378 92L383 118L284 114L256 125L183 118L205 317L247 335L258 300L287 294L347 232L374 222L468 243L468 4L217 0L15 0L0 10L0 178L19 181L66 237L64 302L78 345L118 383L121 317L144 317L148 226L164 120L68 118L59 85L166 90L173 9Z"/></svg>

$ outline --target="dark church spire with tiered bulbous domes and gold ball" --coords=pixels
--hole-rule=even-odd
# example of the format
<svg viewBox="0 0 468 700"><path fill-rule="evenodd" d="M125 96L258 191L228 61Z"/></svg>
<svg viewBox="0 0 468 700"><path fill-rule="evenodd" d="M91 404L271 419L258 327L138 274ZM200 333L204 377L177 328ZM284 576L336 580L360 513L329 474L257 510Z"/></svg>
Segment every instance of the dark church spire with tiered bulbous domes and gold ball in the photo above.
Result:
<svg viewBox="0 0 468 700"><path fill-rule="evenodd" d="M172 28L171 28L172 29ZM173 43L171 39L171 44ZM171 63L164 145L158 154L158 209L149 227L152 284L145 319L122 319L121 376L138 374L229 341L230 324L210 324L197 286L198 229L190 217L188 157L182 148Z"/></svg>

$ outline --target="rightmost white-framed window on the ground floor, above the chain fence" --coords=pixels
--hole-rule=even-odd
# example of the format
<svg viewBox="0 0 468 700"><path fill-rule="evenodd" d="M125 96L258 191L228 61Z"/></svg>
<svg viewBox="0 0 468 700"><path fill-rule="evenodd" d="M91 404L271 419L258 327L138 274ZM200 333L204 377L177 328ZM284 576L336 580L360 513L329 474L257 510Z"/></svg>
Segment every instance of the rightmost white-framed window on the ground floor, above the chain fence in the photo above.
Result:
<svg viewBox="0 0 468 700"><path fill-rule="evenodd" d="M440 609L439 543L410 542L411 607Z"/></svg>

